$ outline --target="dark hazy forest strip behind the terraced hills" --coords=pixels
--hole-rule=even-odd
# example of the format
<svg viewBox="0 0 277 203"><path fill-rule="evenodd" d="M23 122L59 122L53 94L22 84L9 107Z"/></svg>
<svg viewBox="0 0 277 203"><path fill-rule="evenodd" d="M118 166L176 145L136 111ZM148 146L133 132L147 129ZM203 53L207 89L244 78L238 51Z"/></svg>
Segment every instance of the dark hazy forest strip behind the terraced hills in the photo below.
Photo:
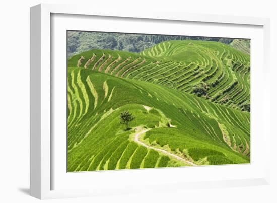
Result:
<svg viewBox="0 0 277 203"><path fill-rule="evenodd" d="M204 40L218 41L230 44L233 39L215 37L173 36L173 35L147 35L147 34L124 34L103 32L67 32L68 57L91 49L111 49L130 52L141 52L162 41L168 40Z"/></svg>

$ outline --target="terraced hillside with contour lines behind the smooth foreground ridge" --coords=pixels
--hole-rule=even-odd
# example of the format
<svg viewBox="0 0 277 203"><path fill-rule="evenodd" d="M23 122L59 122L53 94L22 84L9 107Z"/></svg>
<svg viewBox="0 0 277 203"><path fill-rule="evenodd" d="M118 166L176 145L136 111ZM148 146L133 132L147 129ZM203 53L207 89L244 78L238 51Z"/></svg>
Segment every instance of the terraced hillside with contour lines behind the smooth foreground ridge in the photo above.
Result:
<svg viewBox="0 0 277 203"><path fill-rule="evenodd" d="M220 42L165 41L140 54L94 49L71 57L68 66L160 84L250 110L250 55Z"/></svg>

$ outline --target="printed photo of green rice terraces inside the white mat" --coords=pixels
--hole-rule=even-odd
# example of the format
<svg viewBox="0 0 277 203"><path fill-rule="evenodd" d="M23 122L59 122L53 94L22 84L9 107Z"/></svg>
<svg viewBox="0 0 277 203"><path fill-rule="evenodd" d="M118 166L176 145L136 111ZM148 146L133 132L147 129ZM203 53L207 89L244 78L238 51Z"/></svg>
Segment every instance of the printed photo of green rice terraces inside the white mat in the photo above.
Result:
<svg viewBox="0 0 277 203"><path fill-rule="evenodd" d="M250 163L250 40L67 31L67 171Z"/></svg>

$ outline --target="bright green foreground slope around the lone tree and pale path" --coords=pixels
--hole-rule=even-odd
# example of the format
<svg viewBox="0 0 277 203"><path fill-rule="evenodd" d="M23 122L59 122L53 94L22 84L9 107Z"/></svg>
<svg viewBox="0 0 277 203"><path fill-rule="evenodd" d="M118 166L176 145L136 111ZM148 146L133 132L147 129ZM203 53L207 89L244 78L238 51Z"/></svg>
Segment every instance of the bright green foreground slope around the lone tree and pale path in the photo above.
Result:
<svg viewBox="0 0 277 203"><path fill-rule="evenodd" d="M131 127L150 129L145 143L182 153L197 164L249 163L247 112L164 85L82 67L68 68L67 87L68 171L186 165L133 142L134 131L124 131L119 124L123 110L136 117ZM167 127L168 123L176 128Z"/></svg>

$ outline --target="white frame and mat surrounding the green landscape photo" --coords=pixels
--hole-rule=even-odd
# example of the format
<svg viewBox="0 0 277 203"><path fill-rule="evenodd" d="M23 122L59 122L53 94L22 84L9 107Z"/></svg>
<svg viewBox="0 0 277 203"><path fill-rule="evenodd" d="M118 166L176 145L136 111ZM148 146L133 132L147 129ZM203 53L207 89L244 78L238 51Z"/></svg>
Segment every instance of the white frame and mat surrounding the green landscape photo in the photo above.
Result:
<svg viewBox="0 0 277 203"><path fill-rule="evenodd" d="M53 16L55 15L61 15L61 18L57 17L58 20L53 20ZM191 25L198 23L202 26L204 24L205 26L215 26L215 29L219 29L216 28L216 26L228 27L229 25L236 25L237 27L241 27L241 29L247 26L259 27L259 33L261 33L262 35L257 34L256 39L262 41L262 43L259 44L259 47L261 47L262 49L259 53L262 52L263 60L260 59L260 61L254 62L257 62L257 64L260 65L259 69L256 72L256 76L262 76L263 85L259 87L259 89L258 87L256 90L254 89L254 91L259 91L259 93L262 93L264 97L255 97L255 95L257 94L255 94L255 92L253 92L252 90L253 88L255 88L255 84L253 84L251 81L251 133L254 130L259 131L262 134L262 136L260 136L259 138L254 137L255 142L253 143L263 142L262 155L263 157L270 157L265 156L269 154L270 145L270 132L268 127L270 123L270 110L268 105L268 103L270 102L270 98L268 96L270 89L269 80L267 80L269 77L269 19L223 15L216 16L205 14L186 14L164 11L141 13L138 11L124 11L123 9L101 10L97 8L88 8L85 6L76 5L41 4L34 6L30 9L30 194L32 196L40 199L48 199L148 192L150 188L151 191L165 192L168 190L175 190L177 188L186 189L193 187L196 189L200 189L211 187L230 187L248 185L250 186L269 184L269 160L266 160L266 158L264 158L263 162L261 163L257 163L255 165L255 163L251 162L252 165L250 164L246 166L213 166L212 168L180 167L178 169L158 169L159 172L156 172L156 169L124 170L113 172L104 171L82 174L73 173L70 176L68 176L68 174L66 174L66 170L64 171L64 168L62 168L63 166L59 166L57 164L59 163L59 158L56 154L55 146L61 145L62 143L58 142L57 140L55 140L55 137L53 137L53 134L55 134L55 123L53 122L52 117L55 114L54 111L56 111L56 109L53 108L53 104L55 102L54 98L56 94L54 92L57 92L55 90L55 88L57 88L56 86L60 85L55 82L55 74L59 73L56 72L56 69L53 69L53 67L55 67L55 65L58 63L57 60L63 60L64 62L65 58L57 59L57 57L54 57L52 54L54 51L59 50L59 47L64 46L64 42L61 42L60 45L56 45L59 44L59 42L57 41L53 42L53 35L55 35L55 31L53 31L53 29L56 29L57 33L62 32L62 29L63 31L65 29L70 29L66 27L68 25L66 24L66 20L63 19L69 18L70 15L72 19L77 19L76 21L83 21L83 29L86 29L85 25L87 25L86 22L90 20L90 17L94 16L96 16L98 19L108 17L108 20L112 20L114 18L114 21L116 21L115 19L117 18L127 19L129 22L149 21L151 23L155 23L157 21L163 21L163 23L167 23L168 26L170 26L170 24L174 22L177 22L178 24L180 24L180 26L182 26L182 22L188 22ZM58 25L58 27L55 27L55 25ZM77 28L78 27L76 27L75 29L78 30ZM128 29L131 28L132 27L129 26L124 31L128 31ZM103 30L103 28L99 26L99 30L101 31ZM135 30L133 30L133 32L135 32ZM234 36L235 34L236 33L230 32L226 33L226 36ZM207 35L210 36L211 34ZM237 34L237 36L240 36L240 34ZM243 35L241 36L241 38L243 38ZM58 41L60 41L61 38L57 39ZM66 40L66 36L64 36L64 40ZM58 48L53 49L54 46L58 46ZM255 44L253 47L255 47ZM253 47L251 44L251 48ZM258 47L258 45L256 47ZM255 53L254 50L253 54L255 55L258 53ZM252 62L253 61L251 59L251 63ZM63 65L63 63L61 63L61 65ZM253 78L255 81L255 76L253 76ZM59 89L62 89L62 87ZM254 95L254 101L252 100L252 95ZM259 122L259 126L252 125L252 102L255 102L256 105L254 106L258 107L256 111L254 109L253 114L255 115L255 117L253 117L253 123ZM57 118L55 118L55 120L57 120ZM251 149L255 148L252 148L251 146ZM62 153L60 155L62 155ZM252 158L254 158L253 156L255 156L255 153L251 152L251 160ZM59 157L62 158L62 156ZM66 157L64 157L64 159L66 159ZM55 167L53 165L55 165ZM204 172L212 175L210 179L201 179L203 177L199 176L199 179L197 180L195 179L184 181L182 179L179 179L178 181L164 181L163 183L158 182L156 179L157 174L161 175L161 173L172 172L178 174L182 173L184 170L186 170L186 172L189 173L194 173L193 171L197 171L199 173ZM220 173L221 171L226 173L228 172L228 170L234 171L233 176L213 176L213 174ZM249 172L248 176L244 176L244 174L246 174L247 171L250 170L253 170L253 173ZM61 172L59 173L57 171ZM63 173L62 171L64 171L64 174L61 174ZM241 175L239 176L238 174ZM139 186L130 185L130 183L128 182L128 179L130 179L133 176L137 176L138 178L140 178L146 175L151 176L153 178L146 183L137 182L139 183ZM87 178L89 176L90 178ZM67 188L67 178L71 178L71 181L79 181L79 183L82 183L84 187L80 187L79 189L74 187ZM119 181L122 179L126 180L122 181L122 183L119 185L112 184L112 182ZM94 180L93 183L91 180ZM105 187L105 184L109 181L111 182L111 184ZM139 179L137 179L136 181L139 181ZM56 186L54 182L64 182L64 184L59 184L59 186ZM155 185L155 188L153 187L153 185Z"/></svg>

